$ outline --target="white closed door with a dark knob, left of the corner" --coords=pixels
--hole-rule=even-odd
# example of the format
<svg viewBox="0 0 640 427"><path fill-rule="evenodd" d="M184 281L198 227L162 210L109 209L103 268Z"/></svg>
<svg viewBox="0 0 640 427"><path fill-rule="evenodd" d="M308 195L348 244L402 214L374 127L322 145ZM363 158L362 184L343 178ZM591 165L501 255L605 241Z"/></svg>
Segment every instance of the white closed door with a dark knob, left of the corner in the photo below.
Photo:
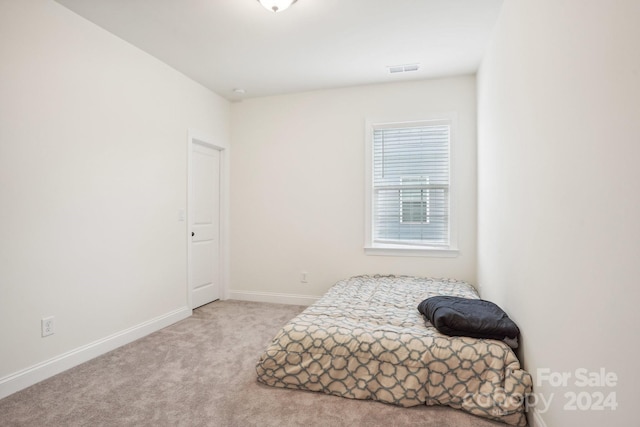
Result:
<svg viewBox="0 0 640 427"><path fill-rule="evenodd" d="M191 142L191 308L220 298L220 151Z"/></svg>

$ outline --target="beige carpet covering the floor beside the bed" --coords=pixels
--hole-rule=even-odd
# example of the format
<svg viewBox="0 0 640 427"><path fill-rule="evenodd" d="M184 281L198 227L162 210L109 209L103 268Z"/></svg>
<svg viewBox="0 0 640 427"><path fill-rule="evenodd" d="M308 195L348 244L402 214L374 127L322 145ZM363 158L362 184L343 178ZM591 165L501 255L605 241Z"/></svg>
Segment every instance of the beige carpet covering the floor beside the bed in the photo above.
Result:
<svg viewBox="0 0 640 427"><path fill-rule="evenodd" d="M304 307L217 301L189 319L0 400L2 426L495 427L446 407L400 408L256 382Z"/></svg>

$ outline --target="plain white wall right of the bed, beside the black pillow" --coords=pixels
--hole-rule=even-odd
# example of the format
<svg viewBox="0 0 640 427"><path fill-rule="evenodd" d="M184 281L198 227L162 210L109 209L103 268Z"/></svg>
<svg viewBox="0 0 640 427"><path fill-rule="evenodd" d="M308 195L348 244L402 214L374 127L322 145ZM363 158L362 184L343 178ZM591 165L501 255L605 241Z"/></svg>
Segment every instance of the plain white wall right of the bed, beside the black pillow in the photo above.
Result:
<svg viewBox="0 0 640 427"><path fill-rule="evenodd" d="M478 281L522 329L547 426L637 425L640 2L505 2L478 74ZM576 369L615 373L580 387ZM616 393L570 411L564 393Z"/></svg>

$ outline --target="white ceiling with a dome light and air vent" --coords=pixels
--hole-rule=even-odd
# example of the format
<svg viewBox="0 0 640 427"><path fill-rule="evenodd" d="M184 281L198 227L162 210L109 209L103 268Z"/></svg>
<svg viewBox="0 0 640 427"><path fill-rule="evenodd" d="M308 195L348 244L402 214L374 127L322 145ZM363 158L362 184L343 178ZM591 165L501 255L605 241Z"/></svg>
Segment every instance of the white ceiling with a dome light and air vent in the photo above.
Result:
<svg viewBox="0 0 640 427"><path fill-rule="evenodd" d="M502 6L298 0L276 14L256 0L56 1L230 101L474 73Z"/></svg>

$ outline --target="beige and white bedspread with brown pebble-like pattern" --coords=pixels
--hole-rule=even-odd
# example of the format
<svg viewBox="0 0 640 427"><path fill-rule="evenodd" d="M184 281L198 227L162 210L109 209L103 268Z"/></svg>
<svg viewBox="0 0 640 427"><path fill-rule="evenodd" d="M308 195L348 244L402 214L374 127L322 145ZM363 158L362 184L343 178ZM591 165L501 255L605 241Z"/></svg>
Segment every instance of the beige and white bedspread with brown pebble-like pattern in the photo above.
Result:
<svg viewBox="0 0 640 427"><path fill-rule="evenodd" d="M448 405L526 425L531 376L501 341L439 333L416 308L436 295L478 298L469 284L447 279L340 281L275 336L258 381L400 406Z"/></svg>

